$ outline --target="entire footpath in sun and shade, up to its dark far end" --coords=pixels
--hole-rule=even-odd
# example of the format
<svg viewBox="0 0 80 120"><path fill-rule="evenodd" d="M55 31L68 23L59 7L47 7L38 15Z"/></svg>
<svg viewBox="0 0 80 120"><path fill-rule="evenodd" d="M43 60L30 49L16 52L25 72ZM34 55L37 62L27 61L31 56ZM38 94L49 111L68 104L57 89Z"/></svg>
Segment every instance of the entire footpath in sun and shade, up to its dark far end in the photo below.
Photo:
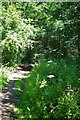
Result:
<svg viewBox="0 0 80 120"><path fill-rule="evenodd" d="M31 68L29 66L20 66L19 70L17 70L16 73L14 73L11 77L9 82L4 86L4 88L1 91L2 96L1 97L1 103L0 103L0 109L2 110L2 119L1 120L18 120L17 114L14 112L14 108L19 105L19 101L21 99L21 94L24 90L24 85L26 82L26 78L29 74L29 71L31 71ZM24 68L25 71L24 71ZM19 77L21 78L21 86L20 91L16 89L16 84L19 82Z"/></svg>

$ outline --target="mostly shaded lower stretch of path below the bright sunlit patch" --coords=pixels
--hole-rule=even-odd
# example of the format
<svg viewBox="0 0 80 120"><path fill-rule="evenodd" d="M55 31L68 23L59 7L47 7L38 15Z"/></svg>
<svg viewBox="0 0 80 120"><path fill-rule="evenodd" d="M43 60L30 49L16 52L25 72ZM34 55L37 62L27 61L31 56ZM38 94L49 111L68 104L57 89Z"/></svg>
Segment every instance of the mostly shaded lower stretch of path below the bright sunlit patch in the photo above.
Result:
<svg viewBox="0 0 80 120"><path fill-rule="evenodd" d="M2 120L15 120L17 114L14 113L14 108L19 105L21 94L24 90L26 78L21 81L21 91L15 89L18 80L9 80L9 82L2 89Z"/></svg>

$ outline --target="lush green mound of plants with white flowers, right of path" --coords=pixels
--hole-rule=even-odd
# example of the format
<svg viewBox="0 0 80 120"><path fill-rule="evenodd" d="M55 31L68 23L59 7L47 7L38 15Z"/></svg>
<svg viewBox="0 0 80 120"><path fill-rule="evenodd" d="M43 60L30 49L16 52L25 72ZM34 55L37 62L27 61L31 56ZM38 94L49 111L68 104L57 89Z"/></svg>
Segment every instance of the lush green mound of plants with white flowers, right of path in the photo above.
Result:
<svg viewBox="0 0 80 120"><path fill-rule="evenodd" d="M63 95L70 84L76 91L76 80L77 75L74 66L68 66L65 61L46 62L41 60L26 80L18 109L19 118L56 118L56 116L59 118L59 114L61 114L59 112L64 111L63 109L60 111L56 109L57 106L59 108L62 106L62 104L59 104L60 101L61 103L66 102L63 105L64 107L67 103L72 103L69 107L74 106L76 109L74 112L77 112L77 101L73 98L69 101L70 96ZM63 101L61 96L66 101ZM69 108L65 107L65 109L66 111L68 109L69 112ZM72 110L70 112L70 114L74 114ZM62 119L65 118L65 114L61 116ZM75 114L75 118L78 118L77 113ZM67 116L71 117L68 114Z"/></svg>

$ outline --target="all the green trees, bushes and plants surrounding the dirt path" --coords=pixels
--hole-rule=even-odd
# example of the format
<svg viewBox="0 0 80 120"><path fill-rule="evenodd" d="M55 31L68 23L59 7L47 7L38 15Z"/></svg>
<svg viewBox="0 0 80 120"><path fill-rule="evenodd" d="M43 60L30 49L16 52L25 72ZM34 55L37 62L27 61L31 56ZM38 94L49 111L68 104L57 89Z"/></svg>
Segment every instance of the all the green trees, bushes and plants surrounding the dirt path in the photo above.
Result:
<svg viewBox="0 0 80 120"><path fill-rule="evenodd" d="M16 85L16 92L22 91L19 119L80 119L79 6L80 2L2 3L2 65L35 64L24 90L22 80Z"/></svg>

